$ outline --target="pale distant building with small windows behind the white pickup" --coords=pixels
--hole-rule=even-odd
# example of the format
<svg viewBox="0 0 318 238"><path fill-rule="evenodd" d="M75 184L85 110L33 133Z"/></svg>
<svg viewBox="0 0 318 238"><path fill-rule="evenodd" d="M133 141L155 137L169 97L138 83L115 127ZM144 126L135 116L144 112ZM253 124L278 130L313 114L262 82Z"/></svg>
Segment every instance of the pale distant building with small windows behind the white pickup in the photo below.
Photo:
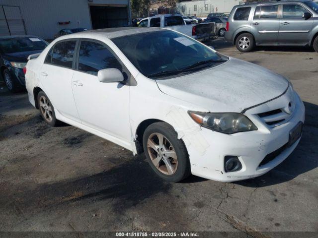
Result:
<svg viewBox="0 0 318 238"><path fill-rule="evenodd" d="M183 15L206 17L209 13L230 13L235 5L243 0L192 0L177 2L177 11Z"/></svg>

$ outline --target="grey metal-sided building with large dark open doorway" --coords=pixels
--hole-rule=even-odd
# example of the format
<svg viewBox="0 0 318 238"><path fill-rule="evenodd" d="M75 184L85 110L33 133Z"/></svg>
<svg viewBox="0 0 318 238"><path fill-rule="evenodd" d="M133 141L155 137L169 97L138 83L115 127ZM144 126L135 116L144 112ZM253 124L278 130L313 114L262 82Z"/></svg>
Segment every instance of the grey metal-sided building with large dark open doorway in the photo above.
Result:
<svg viewBox="0 0 318 238"><path fill-rule="evenodd" d="M53 39L64 28L129 26L129 0L0 0L0 36Z"/></svg>

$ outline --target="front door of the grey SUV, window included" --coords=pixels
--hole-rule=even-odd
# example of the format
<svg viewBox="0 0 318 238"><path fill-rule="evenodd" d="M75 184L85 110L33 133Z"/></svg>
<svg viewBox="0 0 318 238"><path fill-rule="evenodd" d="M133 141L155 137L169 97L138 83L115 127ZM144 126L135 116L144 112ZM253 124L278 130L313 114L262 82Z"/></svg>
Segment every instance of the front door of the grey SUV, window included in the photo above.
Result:
<svg viewBox="0 0 318 238"><path fill-rule="evenodd" d="M306 44L310 40L313 18L303 18L303 13L310 12L297 3L283 4L280 19L278 41L281 44Z"/></svg>

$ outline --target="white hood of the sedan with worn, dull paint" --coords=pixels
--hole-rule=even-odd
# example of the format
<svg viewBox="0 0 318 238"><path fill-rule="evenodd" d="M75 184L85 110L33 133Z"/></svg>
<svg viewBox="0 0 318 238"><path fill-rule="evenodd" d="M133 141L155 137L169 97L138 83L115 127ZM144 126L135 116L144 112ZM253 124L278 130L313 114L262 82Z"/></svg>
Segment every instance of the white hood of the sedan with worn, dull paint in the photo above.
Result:
<svg viewBox="0 0 318 238"><path fill-rule="evenodd" d="M283 94L288 87L283 76L234 58L186 76L157 80L157 84L163 93L210 112L237 113Z"/></svg>

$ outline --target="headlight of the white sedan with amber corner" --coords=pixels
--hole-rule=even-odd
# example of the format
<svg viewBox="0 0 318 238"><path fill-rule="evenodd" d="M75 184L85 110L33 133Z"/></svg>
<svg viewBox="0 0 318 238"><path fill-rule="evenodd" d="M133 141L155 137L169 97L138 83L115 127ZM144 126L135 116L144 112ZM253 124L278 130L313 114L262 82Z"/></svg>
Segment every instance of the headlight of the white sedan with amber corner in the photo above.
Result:
<svg viewBox="0 0 318 238"><path fill-rule="evenodd" d="M240 113L188 113L201 126L226 134L257 130L253 122Z"/></svg>

